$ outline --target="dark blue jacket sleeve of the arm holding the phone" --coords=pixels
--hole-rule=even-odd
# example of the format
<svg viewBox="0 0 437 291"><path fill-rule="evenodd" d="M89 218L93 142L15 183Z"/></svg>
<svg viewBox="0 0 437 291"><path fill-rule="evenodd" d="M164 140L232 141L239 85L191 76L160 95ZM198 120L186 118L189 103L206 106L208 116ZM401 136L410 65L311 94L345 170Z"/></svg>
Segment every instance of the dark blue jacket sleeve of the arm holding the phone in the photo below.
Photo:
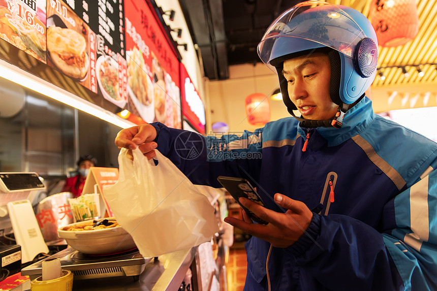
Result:
<svg viewBox="0 0 437 291"><path fill-rule="evenodd" d="M437 290L435 167L436 160L389 202L385 211L395 216L393 229L379 233L345 215L314 214L306 234L287 251L329 289Z"/></svg>

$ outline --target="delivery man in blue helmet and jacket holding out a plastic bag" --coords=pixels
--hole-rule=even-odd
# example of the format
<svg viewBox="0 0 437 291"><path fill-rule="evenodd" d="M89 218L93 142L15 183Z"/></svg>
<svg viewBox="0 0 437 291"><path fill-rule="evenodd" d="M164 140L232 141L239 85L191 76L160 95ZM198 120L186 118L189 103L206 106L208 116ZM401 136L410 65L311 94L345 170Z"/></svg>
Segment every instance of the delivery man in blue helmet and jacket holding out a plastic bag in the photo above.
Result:
<svg viewBox="0 0 437 291"><path fill-rule="evenodd" d="M258 52L301 117L221 139L147 124L122 130L116 145L139 145L149 158L158 148L197 184L220 187L224 175L257 187L268 209L240 202L268 224L244 212L225 218L254 236L244 290L437 289L437 144L374 115L364 94L378 58L369 21L300 3L270 25ZM188 140L195 158L181 155ZM237 155L217 157L222 144Z"/></svg>

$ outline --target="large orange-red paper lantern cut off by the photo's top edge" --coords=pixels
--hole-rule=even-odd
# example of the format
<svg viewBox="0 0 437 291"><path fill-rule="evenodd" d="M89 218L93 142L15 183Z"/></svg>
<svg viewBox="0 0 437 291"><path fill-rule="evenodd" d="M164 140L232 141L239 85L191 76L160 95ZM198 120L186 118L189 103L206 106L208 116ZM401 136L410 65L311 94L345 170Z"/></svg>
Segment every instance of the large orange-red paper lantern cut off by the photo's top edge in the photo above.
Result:
<svg viewBox="0 0 437 291"><path fill-rule="evenodd" d="M373 0L369 19L384 47L403 45L419 31L416 0Z"/></svg>

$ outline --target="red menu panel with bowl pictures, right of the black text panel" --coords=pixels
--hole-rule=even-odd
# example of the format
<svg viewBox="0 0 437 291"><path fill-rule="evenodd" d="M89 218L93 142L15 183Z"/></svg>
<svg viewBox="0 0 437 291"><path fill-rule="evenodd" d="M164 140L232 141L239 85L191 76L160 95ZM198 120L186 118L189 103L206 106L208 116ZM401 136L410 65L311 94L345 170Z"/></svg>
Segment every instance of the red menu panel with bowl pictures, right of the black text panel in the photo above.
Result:
<svg viewBox="0 0 437 291"><path fill-rule="evenodd" d="M145 2L126 0L127 109L181 128L179 61Z"/></svg>

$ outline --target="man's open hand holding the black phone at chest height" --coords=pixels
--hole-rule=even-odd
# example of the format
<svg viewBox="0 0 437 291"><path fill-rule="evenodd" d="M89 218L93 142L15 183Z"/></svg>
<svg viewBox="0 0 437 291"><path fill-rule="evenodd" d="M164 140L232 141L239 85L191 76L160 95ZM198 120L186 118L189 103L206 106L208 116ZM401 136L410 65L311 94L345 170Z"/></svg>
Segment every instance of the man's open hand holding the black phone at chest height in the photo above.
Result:
<svg viewBox="0 0 437 291"><path fill-rule="evenodd" d="M279 206L288 209L287 212L275 212L248 199L239 199L244 207L251 210L259 218L268 221L269 223L266 225L253 223L244 210L243 220L226 217L225 221L247 234L268 241L274 247L289 247L308 228L311 219L313 219L313 212L304 203L279 193L275 194L274 200Z"/></svg>

